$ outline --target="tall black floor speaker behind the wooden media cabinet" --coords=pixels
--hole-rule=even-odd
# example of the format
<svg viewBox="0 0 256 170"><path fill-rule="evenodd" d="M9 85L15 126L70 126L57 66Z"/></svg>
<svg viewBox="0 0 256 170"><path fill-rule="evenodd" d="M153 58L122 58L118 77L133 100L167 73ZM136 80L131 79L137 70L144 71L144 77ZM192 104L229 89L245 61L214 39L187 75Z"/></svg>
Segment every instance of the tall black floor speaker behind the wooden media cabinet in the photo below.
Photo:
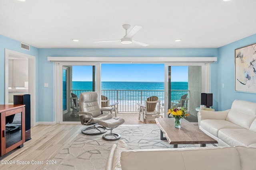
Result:
<svg viewBox="0 0 256 170"><path fill-rule="evenodd" d="M13 96L13 104L25 105L25 141L31 139L30 133L30 94L20 94Z"/></svg>

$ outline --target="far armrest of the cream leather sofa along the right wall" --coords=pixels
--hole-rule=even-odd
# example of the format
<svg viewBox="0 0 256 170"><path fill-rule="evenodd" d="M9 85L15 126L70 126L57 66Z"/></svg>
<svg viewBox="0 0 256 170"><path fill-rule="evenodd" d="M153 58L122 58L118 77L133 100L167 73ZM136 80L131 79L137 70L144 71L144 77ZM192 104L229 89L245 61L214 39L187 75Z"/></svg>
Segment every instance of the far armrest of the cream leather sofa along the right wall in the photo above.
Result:
<svg viewBox="0 0 256 170"><path fill-rule="evenodd" d="M226 117L227 117L229 111L230 111L230 109L225 110L225 111L206 111L206 110L198 111L198 113L197 113L198 126L200 127L200 122L204 119L226 120Z"/></svg>

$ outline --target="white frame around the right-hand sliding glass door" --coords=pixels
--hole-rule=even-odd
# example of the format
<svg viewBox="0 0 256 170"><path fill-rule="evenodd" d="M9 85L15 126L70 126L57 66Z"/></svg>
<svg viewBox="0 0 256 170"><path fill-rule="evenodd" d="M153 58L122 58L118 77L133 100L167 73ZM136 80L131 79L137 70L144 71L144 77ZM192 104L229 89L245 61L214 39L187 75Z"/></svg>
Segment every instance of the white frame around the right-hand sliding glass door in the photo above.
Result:
<svg viewBox="0 0 256 170"><path fill-rule="evenodd" d="M201 66L201 93L210 92L210 63L164 63L164 110L168 110L168 66ZM164 114L167 117L167 114Z"/></svg>

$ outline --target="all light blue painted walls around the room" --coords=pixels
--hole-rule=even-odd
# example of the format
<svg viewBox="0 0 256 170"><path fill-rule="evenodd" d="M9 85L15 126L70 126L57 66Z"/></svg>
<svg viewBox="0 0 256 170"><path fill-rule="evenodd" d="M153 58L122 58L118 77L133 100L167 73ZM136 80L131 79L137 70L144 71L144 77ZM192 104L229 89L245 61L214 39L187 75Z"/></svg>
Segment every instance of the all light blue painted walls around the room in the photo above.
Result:
<svg viewBox="0 0 256 170"><path fill-rule="evenodd" d="M20 49L20 42L0 35L0 104L4 104L4 49L36 56L36 121L54 121L54 63L47 57L218 57L211 64L213 107L229 109L235 99L256 102L256 94L234 91L234 49L256 43L256 34L218 49ZM45 88L44 83L49 87ZM225 88L222 88L222 83Z"/></svg>

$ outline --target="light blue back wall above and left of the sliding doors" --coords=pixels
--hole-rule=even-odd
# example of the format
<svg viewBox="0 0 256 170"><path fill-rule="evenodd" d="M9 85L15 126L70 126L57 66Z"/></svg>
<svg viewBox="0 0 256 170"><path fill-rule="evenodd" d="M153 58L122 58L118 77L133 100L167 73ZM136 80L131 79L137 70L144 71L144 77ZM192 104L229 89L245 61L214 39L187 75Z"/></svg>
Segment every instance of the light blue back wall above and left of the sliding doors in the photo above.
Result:
<svg viewBox="0 0 256 170"><path fill-rule="evenodd" d="M217 49L38 49L39 121L54 120L54 63L47 57L217 57ZM45 88L44 83L49 87Z"/></svg>

